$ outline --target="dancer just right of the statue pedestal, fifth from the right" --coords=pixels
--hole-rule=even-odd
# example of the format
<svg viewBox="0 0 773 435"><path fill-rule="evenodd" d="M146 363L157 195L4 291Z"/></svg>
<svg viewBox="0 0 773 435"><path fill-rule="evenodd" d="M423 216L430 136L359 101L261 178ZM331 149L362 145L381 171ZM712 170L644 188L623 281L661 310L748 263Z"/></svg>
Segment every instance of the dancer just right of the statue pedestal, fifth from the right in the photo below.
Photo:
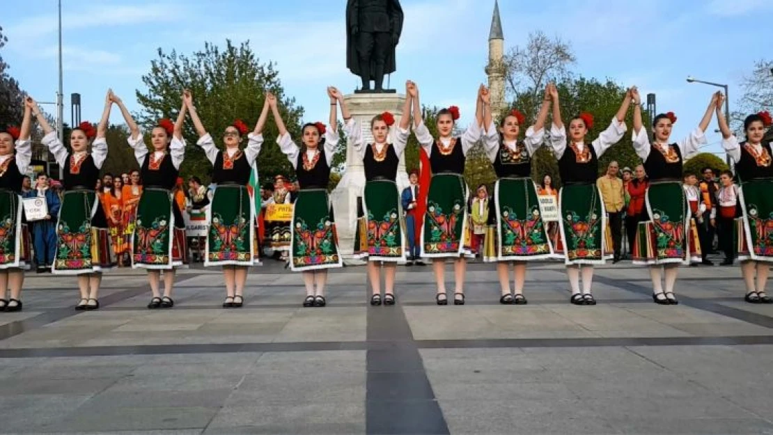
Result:
<svg viewBox="0 0 773 435"><path fill-rule="evenodd" d="M437 114L439 138L433 138L421 114L419 88L411 82L408 95L414 105L414 133L421 148L429 155L432 181L427 192L427 212L424 213L424 231L421 236L421 257L432 259L438 292L435 301L447 305L444 269L446 259L454 261L456 287L454 304L465 304L465 256L472 257L468 246L468 196L469 188L462 176L465 172L467 151L482 134L482 103L478 89L475 121L461 136L455 136L454 127L459 118L458 107L441 109Z"/></svg>

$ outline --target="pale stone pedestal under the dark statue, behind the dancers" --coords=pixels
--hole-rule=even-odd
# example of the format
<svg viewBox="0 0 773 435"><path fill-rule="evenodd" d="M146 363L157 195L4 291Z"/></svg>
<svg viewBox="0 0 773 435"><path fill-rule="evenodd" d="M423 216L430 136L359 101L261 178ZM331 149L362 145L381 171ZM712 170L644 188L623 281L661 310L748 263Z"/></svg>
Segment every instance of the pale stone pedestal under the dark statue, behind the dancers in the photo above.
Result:
<svg viewBox="0 0 773 435"><path fill-rule="evenodd" d="M397 93L353 93L344 97L352 117L363 129L366 144L373 142L370 133L370 120L385 111L394 115L396 124L390 128L390 142L393 130L403 114L405 96ZM405 158L400 156L397 167L397 188L403 192L410 182L405 172ZM357 224L357 209L365 189L365 166L352 147L346 147L346 171L341 181L330 194L335 214L335 230L338 233L339 253L347 266L364 264L363 260L352 258L354 253L354 235Z"/></svg>

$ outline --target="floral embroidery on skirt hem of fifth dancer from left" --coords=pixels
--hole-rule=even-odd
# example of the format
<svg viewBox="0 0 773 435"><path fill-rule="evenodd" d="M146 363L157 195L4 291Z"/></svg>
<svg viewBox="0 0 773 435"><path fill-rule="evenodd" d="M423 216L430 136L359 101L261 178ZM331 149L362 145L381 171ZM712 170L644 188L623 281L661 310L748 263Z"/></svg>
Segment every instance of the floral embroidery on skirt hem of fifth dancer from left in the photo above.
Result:
<svg viewBox="0 0 773 435"><path fill-rule="evenodd" d="M339 254L335 250L333 223L322 218L309 226L304 219L295 219L295 243L292 260L295 267L335 264Z"/></svg>

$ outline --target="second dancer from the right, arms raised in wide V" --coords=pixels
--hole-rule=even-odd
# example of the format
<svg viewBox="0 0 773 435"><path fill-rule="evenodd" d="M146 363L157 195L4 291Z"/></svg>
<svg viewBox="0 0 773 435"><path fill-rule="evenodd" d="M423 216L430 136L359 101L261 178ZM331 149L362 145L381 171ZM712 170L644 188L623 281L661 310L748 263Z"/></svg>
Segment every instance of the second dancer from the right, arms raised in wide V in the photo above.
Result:
<svg viewBox="0 0 773 435"><path fill-rule="evenodd" d="M703 119L690 136L669 144L676 123L673 112L659 114L652 120L655 143L642 124L642 100L633 88L633 148L644 161L649 176L645 207L649 221L638 224L634 241L633 263L649 266L652 277L652 301L656 304L679 304L674 284L679 264L690 264L690 247L698 243L697 233L690 229L690 205L682 187L682 166L686 158L696 155L707 144L703 134L713 116L720 93L714 93ZM698 260L696 255L694 260ZM665 292L661 284L661 267L665 274Z"/></svg>

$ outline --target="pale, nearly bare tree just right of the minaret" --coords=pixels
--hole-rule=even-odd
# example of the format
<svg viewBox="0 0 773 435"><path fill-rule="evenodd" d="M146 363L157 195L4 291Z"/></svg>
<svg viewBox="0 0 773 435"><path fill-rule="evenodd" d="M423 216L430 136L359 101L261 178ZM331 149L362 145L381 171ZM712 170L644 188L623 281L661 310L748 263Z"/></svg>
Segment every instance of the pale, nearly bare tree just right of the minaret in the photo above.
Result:
<svg viewBox="0 0 773 435"><path fill-rule="evenodd" d="M539 112L547 83L570 79L568 68L576 60L569 43L559 37L550 39L541 30L529 34L525 47L515 46L504 57L507 90L526 119Z"/></svg>

